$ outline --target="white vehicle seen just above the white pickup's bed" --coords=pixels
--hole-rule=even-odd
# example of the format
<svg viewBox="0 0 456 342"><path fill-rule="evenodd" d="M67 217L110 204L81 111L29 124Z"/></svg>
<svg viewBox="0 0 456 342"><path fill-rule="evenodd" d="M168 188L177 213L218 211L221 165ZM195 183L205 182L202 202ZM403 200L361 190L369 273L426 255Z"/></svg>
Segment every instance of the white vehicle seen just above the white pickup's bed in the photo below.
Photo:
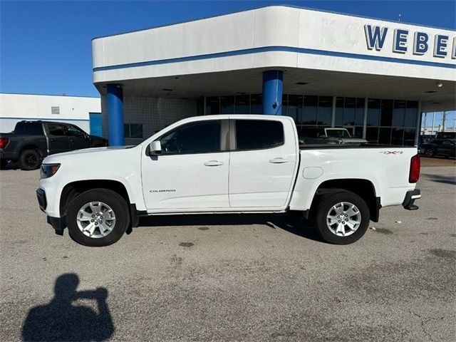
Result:
<svg viewBox="0 0 456 342"><path fill-rule="evenodd" d="M304 145L364 144L363 138L352 138L346 128L300 128L299 139Z"/></svg>

